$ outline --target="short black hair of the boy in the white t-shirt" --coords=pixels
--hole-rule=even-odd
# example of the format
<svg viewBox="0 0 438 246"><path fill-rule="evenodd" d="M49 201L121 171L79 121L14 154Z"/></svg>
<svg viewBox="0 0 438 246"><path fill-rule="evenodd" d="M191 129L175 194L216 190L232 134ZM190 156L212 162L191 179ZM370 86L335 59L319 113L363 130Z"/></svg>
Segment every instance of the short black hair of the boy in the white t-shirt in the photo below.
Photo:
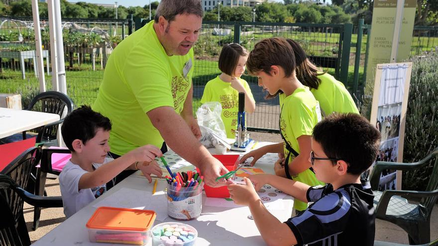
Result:
<svg viewBox="0 0 438 246"><path fill-rule="evenodd" d="M96 136L100 128L104 131L111 130L109 118L93 111L90 106L82 105L64 118L61 134L67 148L74 152L72 143L75 139L85 144Z"/></svg>

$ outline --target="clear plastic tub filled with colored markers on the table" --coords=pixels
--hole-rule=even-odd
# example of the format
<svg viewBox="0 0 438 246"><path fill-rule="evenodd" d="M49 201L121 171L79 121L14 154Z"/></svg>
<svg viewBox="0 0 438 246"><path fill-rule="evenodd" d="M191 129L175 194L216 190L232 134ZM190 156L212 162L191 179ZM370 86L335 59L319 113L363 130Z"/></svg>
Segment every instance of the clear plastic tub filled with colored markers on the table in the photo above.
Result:
<svg viewBox="0 0 438 246"><path fill-rule="evenodd" d="M203 176L197 172L178 172L167 180L167 215L175 220L194 220L202 212Z"/></svg>

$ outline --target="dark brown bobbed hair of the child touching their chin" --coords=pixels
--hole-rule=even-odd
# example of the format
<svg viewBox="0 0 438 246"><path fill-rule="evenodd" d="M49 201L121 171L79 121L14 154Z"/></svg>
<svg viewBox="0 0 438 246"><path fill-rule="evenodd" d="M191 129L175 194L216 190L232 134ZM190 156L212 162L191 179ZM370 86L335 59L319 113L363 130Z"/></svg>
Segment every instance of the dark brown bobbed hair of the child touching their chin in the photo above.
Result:
<svg viewBox="0 0 438 246"><path fill-rule="evenodd" d="M219 70L226 75L233 76L239 58L247 55L248 52L240 44L225 44L219 55Z"/></svg>

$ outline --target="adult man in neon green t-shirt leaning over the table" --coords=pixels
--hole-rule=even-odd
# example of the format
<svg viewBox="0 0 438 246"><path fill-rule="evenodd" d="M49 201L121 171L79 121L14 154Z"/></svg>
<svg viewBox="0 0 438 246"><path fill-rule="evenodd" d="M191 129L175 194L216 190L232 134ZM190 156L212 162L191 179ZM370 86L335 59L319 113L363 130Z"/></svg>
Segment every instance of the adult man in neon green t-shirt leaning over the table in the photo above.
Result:
<svg viewBox="0 0 438 246"><path fill-rule="evenodd" d="M200 0L161 0L154 20L112 52L93 109L111 120L113 157L145 144L161 147L164 140L217 186L225 181L215 179L227 170L198 141L192 113L192 46L202 16Z"/></svg>

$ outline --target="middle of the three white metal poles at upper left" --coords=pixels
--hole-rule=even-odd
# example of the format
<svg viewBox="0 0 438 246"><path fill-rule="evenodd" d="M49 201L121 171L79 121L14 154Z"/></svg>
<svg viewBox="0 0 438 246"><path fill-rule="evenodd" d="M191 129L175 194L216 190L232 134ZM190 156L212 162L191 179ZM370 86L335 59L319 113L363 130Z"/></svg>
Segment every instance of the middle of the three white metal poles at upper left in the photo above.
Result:
<svg viewBox="0 0 438 246"><path fill-rule="evenodd" d="M52 90L59 91L58 83L58 52L56 51L56 29L54 0L47 0L47 12L49 15L50 33L50 61L52 62Z"/></svg>

